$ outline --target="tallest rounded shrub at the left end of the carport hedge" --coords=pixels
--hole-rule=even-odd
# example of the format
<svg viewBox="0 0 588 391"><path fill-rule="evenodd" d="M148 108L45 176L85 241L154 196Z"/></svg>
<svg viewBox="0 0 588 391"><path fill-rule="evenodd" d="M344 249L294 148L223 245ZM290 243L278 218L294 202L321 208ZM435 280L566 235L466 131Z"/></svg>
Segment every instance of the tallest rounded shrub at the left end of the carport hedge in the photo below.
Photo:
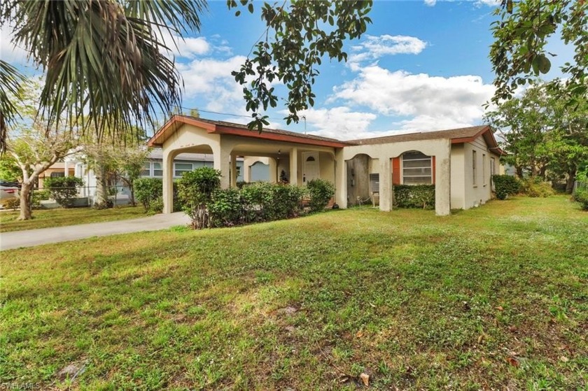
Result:
<svg viewBox="0 0 588 391"><path fill-rule="evenodd" d="M192 220L193 228L209 227L207 204L212 200L212 194L220 188L221 171L210 167L200 167L183 173L178 180L178 197L183 204L183 210Z"/></svg>

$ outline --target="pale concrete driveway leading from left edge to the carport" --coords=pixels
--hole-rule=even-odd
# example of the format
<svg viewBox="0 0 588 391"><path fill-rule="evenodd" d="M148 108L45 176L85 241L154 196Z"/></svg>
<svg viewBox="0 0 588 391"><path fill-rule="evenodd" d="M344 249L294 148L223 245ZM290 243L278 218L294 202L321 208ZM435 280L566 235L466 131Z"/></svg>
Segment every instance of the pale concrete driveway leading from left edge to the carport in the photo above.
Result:
<svg viewBox="0 0 588 391"><path fill-rule="evenodd" d="M67 227L28 229L26 231L5 232L0 234L0 250L31 247L47 243L75 241L92 236L127 234L129 232L156 231L174 225L187 225L190 218L183 212L167 215L154 215L148 218L92 222L90 224L69 225Z"/></svg>

